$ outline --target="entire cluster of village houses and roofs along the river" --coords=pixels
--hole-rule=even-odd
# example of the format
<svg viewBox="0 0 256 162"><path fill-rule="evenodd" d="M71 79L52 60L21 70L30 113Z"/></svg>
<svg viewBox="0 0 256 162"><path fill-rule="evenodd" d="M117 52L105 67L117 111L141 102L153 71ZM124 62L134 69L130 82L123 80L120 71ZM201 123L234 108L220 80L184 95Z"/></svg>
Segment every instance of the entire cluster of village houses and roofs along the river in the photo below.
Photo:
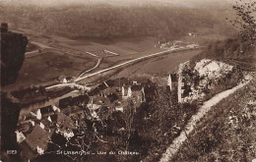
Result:
<svg viewBox="0 0 256 162"><path fill-rule="evenodd" d="M113 112L122 113L128 100L139 106L155 95L154 85L128 79L103 81L87 94L65 97L54 105L26 111L20 114L17 141L43 154L52 136L60 135L68 141L86 120L101 121Z"/></svg>

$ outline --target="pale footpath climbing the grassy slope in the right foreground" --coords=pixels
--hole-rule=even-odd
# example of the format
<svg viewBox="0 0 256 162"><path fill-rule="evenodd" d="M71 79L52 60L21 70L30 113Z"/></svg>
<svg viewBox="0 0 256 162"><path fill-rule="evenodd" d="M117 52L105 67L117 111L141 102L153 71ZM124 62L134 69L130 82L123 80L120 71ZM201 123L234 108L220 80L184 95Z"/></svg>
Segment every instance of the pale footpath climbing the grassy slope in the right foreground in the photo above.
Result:
<svg viewBox="0 0 256 162"><path fill-rule="evenodd" d="M248 79L248 77L247 77ZM225 90L217 95L215 95L210 100L206 101L204 105L199 108L197 114L193 115L190 119L189 123L186 125L184 130L181 132L179 136L177 136L172 143L168 146L165 153L162 154L160 158L160 162L169 162L173 155L178 151L183 142L187 139L187 135L191 134L191 132L195 129L196 125L200 120L211 110L213 106L218 104L221 100L234 93L237 89L243 87L250 80L239 83L231 89Z"/></svg>

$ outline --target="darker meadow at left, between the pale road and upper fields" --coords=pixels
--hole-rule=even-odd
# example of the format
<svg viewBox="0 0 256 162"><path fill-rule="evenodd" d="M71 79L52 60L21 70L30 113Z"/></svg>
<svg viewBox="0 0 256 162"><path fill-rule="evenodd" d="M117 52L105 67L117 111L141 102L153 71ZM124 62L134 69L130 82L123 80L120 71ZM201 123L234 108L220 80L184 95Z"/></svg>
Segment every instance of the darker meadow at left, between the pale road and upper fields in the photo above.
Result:
<svg viewBox="0 0 256 162"><path fill-rule="evenodd" d="M95 64L96 59L90 57L72 57L56 52L43 53L26 59L17 81L4 87L3 90L54 81L61 75L77 77Z"/></svg>

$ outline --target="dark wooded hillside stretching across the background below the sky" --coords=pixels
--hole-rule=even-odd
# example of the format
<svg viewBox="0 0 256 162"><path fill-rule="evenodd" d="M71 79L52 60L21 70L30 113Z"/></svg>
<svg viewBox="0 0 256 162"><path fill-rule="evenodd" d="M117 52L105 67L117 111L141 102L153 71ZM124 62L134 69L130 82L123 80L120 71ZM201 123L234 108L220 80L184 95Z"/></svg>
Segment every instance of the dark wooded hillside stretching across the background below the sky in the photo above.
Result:
<svg viewBox="0 0 256 162"><path fill-rule="evenodd" d="M158 36L169 39L193 32L197 27L223 23L205 10L152 6L1 7L0 14L16 27L27 23L37 30L71 38Z"/></svg>

